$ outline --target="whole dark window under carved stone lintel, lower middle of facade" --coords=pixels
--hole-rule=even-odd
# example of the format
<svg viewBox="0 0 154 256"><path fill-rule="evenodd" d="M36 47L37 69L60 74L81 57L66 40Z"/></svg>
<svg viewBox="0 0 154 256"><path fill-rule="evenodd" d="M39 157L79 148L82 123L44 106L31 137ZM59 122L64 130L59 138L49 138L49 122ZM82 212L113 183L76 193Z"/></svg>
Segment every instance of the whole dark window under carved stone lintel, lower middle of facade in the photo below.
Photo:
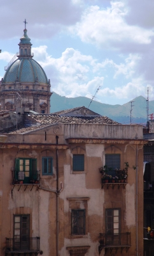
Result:
<svg viewBox="0 0 154 256"><path fill-rule="evenodd" d="M85 235L85 209L72 210L72 235Z"/></svg>

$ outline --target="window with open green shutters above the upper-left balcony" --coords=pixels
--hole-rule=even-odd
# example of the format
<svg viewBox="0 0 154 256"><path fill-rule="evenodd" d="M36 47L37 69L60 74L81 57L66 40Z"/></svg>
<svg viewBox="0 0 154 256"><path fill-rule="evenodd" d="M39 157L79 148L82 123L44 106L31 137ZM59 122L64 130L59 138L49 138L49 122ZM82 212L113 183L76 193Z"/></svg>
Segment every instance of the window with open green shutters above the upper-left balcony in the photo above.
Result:
<svg viewBox="0 0 154 256"><path fill-rule="evenodd" d="M17 158L15 163L15 180L24 184L39 180L37 171L37 159Z"/></svg>

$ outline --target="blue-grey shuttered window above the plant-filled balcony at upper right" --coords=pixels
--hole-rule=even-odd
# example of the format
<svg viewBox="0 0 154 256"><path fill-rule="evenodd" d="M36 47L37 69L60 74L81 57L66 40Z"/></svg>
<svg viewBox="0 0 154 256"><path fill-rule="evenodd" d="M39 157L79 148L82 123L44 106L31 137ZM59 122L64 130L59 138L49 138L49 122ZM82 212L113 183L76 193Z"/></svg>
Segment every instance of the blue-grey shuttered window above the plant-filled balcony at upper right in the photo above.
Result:
<svg viewBox="0 0 154 256"><path fill-rule="evenodd" d="M106 154L106 165L115 170L120 168L120 154Z"/></svg>

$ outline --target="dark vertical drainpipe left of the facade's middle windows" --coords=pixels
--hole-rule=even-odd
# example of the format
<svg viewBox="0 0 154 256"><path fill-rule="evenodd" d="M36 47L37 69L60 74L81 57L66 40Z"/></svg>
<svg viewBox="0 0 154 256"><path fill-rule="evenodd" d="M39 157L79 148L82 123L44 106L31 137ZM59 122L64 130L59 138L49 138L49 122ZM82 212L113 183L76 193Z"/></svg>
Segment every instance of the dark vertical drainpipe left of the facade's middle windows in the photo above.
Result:
<svg viewBox="0 0 154 256"><path fill-rule="evenodd" d="M59 136L55 136L56 144L59 144ZM56 239L56 246L57 246L57 256L59 255L59 151L58 148L56 149L56 170L57 170L57 194L56 194L56 218L57 218L57 239Z"/></svg>

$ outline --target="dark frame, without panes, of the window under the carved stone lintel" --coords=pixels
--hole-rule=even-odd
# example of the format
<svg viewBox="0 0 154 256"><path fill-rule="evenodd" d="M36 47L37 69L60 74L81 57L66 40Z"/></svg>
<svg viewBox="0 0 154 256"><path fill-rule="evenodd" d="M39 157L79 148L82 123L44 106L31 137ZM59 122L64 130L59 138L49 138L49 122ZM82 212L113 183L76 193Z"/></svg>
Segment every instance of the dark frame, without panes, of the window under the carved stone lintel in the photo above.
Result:
<svg viewBox="0 0 154 256"><path fill-rule="evenodd" d="M77 221L77 224L76 224L76 230L77 230L77 233L74 233L73 232L73 212L76 211L76 221ZM83 234L80 234L79 232L79 218L81 216L78 215L79 212L83 212ZM85 236L86 234L86 210L85 209L71 209L71 236Z"/></svg>

